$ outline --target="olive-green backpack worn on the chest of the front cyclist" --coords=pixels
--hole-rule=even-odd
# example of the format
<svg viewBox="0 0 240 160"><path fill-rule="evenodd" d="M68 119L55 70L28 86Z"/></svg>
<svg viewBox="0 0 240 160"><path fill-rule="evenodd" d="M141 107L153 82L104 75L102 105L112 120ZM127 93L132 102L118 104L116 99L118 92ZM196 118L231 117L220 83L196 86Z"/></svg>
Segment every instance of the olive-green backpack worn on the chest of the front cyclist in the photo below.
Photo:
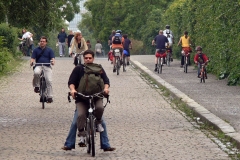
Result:
<svg viewBox="0 0 240 160"><path fill-rule="evenodd" d="M84 75L79 82L77 91L85 95L102 92L104 89L104 82L101 78L102 71L103 68L100 64L85 64Z"/></svg>

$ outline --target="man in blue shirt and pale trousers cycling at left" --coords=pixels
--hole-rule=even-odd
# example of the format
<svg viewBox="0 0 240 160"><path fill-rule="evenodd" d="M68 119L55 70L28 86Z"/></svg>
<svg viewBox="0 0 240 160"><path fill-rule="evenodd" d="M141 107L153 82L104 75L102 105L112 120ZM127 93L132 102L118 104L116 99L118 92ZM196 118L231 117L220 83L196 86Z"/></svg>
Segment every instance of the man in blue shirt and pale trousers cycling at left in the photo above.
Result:
<svg viewBox="0 0 240 160"><path fill-rule="evenodd" d="M40 39L40 46L35 48L33 50L33 54L30 60L30 65L33 65L33 62L36 63L51 63L52 65L55 64L55 56L54 52L51 48L47 47L47 38L42 36ZM52 68L50 64L45 64L43 66L44 69L44 75L46 79L47 84L47 103L53 102L53 90L52 90ZM36 67L34 68L34 77L33 77L33 87L34 92L39 93L39 86L40 86L40 74L42 72L42 66L40 64L36 64ZM41 102L40 98L40 102Z"/></svg>

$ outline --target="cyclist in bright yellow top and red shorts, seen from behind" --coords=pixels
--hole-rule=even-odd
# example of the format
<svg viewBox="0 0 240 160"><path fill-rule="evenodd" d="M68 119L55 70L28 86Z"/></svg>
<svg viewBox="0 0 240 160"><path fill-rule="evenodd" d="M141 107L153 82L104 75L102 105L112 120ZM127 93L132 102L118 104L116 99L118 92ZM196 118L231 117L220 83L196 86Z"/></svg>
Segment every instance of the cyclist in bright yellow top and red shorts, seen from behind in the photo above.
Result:
<svg viewBox="0 0 240 160"><path fill-rule="evenodd" d="M191 39L190 37L188 36L188 31L185 31L184 32L184 35L180 38L177 46L180 45L180 43L182 43L182 51L184 51L184 53L190 53L192 52L192 49L191 49ZM183 67L184 65L184 54L182 54L182 59L181 59L181 68Z"/></svg>

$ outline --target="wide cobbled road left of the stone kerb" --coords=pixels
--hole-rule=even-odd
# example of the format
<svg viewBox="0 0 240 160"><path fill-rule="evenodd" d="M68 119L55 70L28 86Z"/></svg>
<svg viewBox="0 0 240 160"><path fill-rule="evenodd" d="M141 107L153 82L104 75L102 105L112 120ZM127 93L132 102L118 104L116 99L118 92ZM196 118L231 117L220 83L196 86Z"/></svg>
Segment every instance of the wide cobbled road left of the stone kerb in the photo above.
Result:
<svg viewBox="0 0 240 160"><path fill-rule="evenodd" d="M62 58L53 67L54 103L44 110L38 102L39 95L33 92L32 69L27 62L21 71L1 79L0 159L229 159L134 69L128 68L117 76L106 59L96 61L103 64L111 80L111 104L104 114L110 143L117 150L106 153L97 149L96 158L92 158L78 146L74 151L60 149L74 111L74 103L67 101L72 59ZM211 79L210 76L206 85ZM99 148L99 143L96 145Z"/></svg>

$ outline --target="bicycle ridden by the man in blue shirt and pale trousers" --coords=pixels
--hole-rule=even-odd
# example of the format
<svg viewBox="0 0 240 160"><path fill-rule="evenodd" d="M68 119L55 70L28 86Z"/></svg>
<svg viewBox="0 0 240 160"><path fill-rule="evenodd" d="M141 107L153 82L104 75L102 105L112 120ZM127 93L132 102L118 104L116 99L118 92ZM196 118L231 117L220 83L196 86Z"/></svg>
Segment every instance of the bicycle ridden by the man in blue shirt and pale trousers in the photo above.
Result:
<svg viewBox="0 0 240 160"><path fill-rule="evenodd" d="M45 79L45 75L44 75L44 68L43 66L44 65L51 65L51 63L35 63L35 66L36 64L40 64L41 65L41 68L42 68L42 71L41 71L41 74L40 74L40 87L39 87L39 90L40 90L40 102L42 103L42 109L45 108L45 102L47 102L47 84L46 84L46 79Z"/></svg>

